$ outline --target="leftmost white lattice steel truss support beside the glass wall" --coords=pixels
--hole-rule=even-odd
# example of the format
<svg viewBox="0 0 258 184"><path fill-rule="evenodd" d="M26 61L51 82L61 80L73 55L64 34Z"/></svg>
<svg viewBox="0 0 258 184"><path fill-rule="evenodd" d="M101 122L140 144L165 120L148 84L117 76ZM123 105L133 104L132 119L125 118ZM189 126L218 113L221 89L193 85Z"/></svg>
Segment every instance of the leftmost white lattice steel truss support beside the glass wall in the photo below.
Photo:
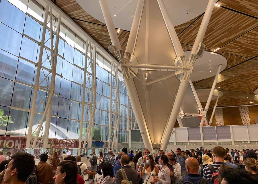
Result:
<svg viewBox="0 0 258 184"><path fill-rule="evenodd" d="M48 25L48 12L50 11L50 30L48 30L47 25ZM57 60L57 52L58 52L58 41L59 41L59 32L60 32L60 23L61 23L61 17L60 15L57 15L58 17L58 22L57 22L57 28L56 28L56 24L54 23L54 27L53 27L53 21L54 18L56 18L56 16L53 18L52 15L52 8L49 9L49 6L46 5L46 10L45 10L45 17L44 17L44 24L43 24L43 31L42 31L42 39L40 42L40 54L39 54L39 60L37 63L37 73L36 73L36 80L35 80L35 85L34 85L34 94L33 94L33 100L32 100L32 107L31 107L31 113L30 113L30 122L29 122L29 127L28 127L28 134L27 134L27 142L26 142L26 148L30 148L30 143L32 141L32 135L34 134L34 132L36 132L36 137L33 141L32 144L32 148L36 147L36 143L38 141L38 136L40 134L40 131L42 131L42 135L43 135L43 130L42 130L42 125L43 122L46 118L46 125L45 125L45 132L44 132L44 137L43 139L38 143L38 145L43 141L43 147L47 147L48 144L48 134L49 134L49 127L50 127L50 119L51 119L51 114L52 114L52 100L53 100L53 95L54 95L54 87L55 87L55 76L56 76L56 60ZM54 44L53 44L53 37L54 37L54 33L53 33L53 28L54 30L56 30L56 42L55 42L55 48L54 48ZM49 56L47 54L46 48L45 48L45 43L49 40L45 41L45 36L46 36L46 31L48 30L49 36L50 36L50 42L51 42L51 56ZM47 54L47 58L42 61L42 57L43 57L43 52L45 52ZM49 59L51 58L51 60ZM45 74L45 70L43 70L42 68L42 64L44 62L49 62L50 66L51 66L51 70L49 71L49 73L46 75ZM44 78L42 81L40 81L40 72L42 70L42 73L44 74ZM50 76L51 74L51 82L50 85L47 86L42 86L41 84L48 84L47 78ZM40 103L36 106L36 101L37 101L37 96L38 96L38 92L39 90L42 91L46 91L48 92L48 102L46 103L43 115L41 120L39 121L38 115L36 114L36 109L40 106L43 105L44 106L44 101L45 98L41 96L41 94L39 93L39 96L41 98ZM46 97L46 96L45 96ZM47 116L47 117L46 117ZM38 121L38 126L35 128L35 130L32 132L32 128L33 128L33 123L34 123L34 117L36 117L36 120Z"/></svg>

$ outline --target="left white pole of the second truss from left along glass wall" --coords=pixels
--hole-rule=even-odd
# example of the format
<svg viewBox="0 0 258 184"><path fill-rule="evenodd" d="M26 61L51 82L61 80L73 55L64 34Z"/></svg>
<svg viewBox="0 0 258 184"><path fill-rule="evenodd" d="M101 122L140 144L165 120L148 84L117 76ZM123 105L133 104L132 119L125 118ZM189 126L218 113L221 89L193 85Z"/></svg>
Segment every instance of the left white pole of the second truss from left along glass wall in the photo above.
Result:
<svg viewBox="0 0 258 184"><path fill-rule="evenodd" d="M80 119L80 134L79 134L79 150L78 153L81 153L81 139L83 131L83 119L84 119L84 108L85 108L85 90L86 90L86 76L87 76L87 61L88 61L88 46L89 41L86 40L86 50L85 50L85 60L84 60L84 75L83 75L83 96L81 100L81 119ZM88 112L88 111L87 111Z"/></svg>

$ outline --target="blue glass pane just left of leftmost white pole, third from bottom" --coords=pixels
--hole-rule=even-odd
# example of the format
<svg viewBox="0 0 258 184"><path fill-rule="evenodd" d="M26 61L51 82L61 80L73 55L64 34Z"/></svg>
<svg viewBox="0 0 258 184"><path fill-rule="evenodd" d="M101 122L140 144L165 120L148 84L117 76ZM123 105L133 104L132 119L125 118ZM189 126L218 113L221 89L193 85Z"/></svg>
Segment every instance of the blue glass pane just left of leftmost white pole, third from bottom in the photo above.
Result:
<svg viewBox="0 0 258 184"><path fill-rule="evenodd" d="M34 64L19 59L16 80L25 82L26 84L33 84L34 71Z"/></svg>

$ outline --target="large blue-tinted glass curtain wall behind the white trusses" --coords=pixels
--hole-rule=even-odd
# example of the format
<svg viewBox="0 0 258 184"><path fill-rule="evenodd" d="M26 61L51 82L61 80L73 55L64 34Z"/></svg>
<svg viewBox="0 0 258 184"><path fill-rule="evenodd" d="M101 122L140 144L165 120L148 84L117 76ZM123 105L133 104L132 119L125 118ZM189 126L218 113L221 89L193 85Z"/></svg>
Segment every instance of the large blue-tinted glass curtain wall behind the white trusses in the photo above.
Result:
<svg viewBox="0 0 258 184"><path fill-rule="evenodd" d="M0 135L26 136L27 134L44 14L44 8L34 0L0 1ZM42 62L50 56L50 34L48 32L46 32L45 41L47 42ZM84 75L80 68L84 68L85 45L85 41L61 23L49 138L79 138L80 101L82 100ZM98 53L96 61L97 109L93 141L107 141L110 108L110 63ZM49 74L50 63L44 62L42 66L40 81ZM87 71L87 78L91 78L90 67L87 68ZM50 85L50 80L51 74L41 85ZM89 82L86 86L90 87ZM129 142L127 108L130 110L131 105L129 102L128 107L127 92L122 82L121 72L119 74L119 91L121 117L118 142ZM86 89L85 96L87 93L89 90ZM36 106L40 103L40 95L44 97L45 104L48 100L47 92L39 91ZM87 109L85 109L86 111ZM44 106L38 106L36 114L39 121L43 112ZM129 115L131 114L129 113ZM87 120L88 117L85 116L84 128L87 127ZM114 128L114 122L112 122L112 126ZM35 116L33 131L36 127ZM42 131L44 133L44 124ZM83 132L85 133L84 130Z"/></svg>

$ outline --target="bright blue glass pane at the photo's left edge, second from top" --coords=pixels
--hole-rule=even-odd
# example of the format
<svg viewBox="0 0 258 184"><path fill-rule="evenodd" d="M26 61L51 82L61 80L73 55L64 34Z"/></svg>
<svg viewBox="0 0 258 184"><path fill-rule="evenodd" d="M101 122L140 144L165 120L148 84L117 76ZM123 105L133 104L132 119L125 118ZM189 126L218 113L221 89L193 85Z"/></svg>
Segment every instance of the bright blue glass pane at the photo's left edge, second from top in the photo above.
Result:
<svg viewBox="0 0 258 184"><path fill-rule="evenodd" d="M0 49L19 56L21 34L0 22Z"/></svg>

